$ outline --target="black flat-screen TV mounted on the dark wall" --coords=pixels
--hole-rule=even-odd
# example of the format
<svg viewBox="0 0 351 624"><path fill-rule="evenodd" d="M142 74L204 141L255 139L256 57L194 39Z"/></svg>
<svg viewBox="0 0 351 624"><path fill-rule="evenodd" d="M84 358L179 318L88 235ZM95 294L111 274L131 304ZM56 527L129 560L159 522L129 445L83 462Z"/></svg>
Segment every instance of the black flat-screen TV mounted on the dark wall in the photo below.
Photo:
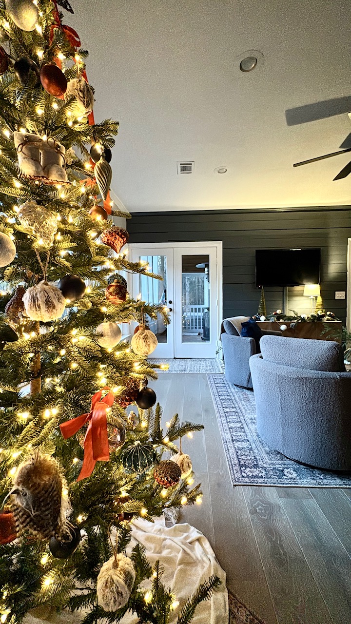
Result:
<svg viewBox="0 0 351 624"><path fill-rule="evenodd" d="M320 283L320 249L257 249L256 286Z"/></svg>

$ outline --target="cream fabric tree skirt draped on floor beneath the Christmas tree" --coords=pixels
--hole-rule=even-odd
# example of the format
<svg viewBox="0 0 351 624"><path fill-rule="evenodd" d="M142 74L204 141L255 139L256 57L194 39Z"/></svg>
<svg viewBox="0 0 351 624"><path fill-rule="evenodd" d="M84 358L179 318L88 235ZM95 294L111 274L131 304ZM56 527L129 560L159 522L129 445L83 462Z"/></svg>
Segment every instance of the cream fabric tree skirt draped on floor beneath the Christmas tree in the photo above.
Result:
<svg viewBox="0 0 351 624"><path fill-rule="evenodd" d="M164 519L156 519L156 522L152 523L138 518L132 524L132 542L127 554L137 542L146 547L146 557L151 565L160 560L164 568L162 581L166 587L171 588L175 598L179 600L179 607L171 619L172 623L177 621L182 606L196 591L199 583L212 575L217 575L222 585L213 593L210 600L199 604L192 624L227 624L229 612L225 572L217 562L209 540L200 531L189 524L175 524L167 528ZM56 615L41 610L40 615L36 613L36 617L28 615L24 623L77 624L82 617L83 614L77 612ZM137 621L135 615L127 613L121 624L136 624Z"/></svg>

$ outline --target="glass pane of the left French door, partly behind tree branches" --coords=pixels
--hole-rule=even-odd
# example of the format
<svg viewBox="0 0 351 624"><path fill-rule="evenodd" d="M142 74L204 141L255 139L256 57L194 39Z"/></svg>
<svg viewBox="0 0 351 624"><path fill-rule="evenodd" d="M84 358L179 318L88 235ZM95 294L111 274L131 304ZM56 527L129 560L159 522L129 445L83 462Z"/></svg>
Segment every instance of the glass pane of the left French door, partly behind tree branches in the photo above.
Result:
<svg viewBox="0 0 351 624"><path fill-rule="evenodd" d="M163 280L155 280L147 275L139 275L141 300L147 303L162 303L167 306L167 256L140 256L147 270L161 275ZM159 343L167 343L167 327L161 316L157 319L146 316L149 329L157 336Z"/></svg>

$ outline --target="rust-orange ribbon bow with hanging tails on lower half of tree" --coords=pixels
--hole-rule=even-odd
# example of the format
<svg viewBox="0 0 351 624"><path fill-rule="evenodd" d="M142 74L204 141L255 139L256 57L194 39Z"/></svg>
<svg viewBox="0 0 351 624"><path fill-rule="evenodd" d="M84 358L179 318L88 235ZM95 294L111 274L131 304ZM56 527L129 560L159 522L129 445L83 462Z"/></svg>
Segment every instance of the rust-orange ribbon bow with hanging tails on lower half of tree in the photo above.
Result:
<svg viewBox="0 0 351 624"><path fill-rule="evenodd" d="M103 399L101 399L102 390L108 390ZM68 437L74 436L87 422L89 423L84 437L83 465L77 481L90 477L96 462L109 461L110 459L106 413L114 402L114 393L107 386L102 390L96 392L92 397L89 414L82 414L60 425L62 436L67 440Z"/></svg>

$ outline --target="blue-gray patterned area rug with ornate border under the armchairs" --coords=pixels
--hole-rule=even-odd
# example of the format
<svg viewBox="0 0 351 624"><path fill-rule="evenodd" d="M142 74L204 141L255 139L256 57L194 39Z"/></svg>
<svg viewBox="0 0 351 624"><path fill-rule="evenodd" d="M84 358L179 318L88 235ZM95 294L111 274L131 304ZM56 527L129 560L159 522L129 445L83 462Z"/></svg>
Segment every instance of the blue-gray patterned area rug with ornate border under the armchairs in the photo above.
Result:
<svg viewBox="0 0 351 624"><path fill-rule="evenodd" d="M256 429L254 392L209 375L225 456L233 485L351 487L351 475L302 466L270 450Z"/></svg>

